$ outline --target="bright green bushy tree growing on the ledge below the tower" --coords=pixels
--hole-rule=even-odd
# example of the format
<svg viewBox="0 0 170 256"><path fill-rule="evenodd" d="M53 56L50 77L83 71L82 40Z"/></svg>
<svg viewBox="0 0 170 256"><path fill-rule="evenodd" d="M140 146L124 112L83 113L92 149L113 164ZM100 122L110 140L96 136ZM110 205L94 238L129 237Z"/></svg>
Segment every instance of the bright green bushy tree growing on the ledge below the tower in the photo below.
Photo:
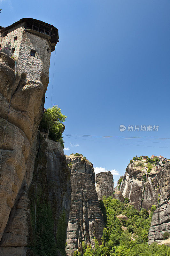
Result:
<svg viewBox="0 0 170 256"><path fill-rule="evenodd" d="M60 141L64 147L64 140L61 136L63 124L61 123L65 122L66 118L67 116L61 113L61 109L53 105L52 108L47 108L43 113L39 129L46 132L49 130L49 138L53 141Z"/></svg>

